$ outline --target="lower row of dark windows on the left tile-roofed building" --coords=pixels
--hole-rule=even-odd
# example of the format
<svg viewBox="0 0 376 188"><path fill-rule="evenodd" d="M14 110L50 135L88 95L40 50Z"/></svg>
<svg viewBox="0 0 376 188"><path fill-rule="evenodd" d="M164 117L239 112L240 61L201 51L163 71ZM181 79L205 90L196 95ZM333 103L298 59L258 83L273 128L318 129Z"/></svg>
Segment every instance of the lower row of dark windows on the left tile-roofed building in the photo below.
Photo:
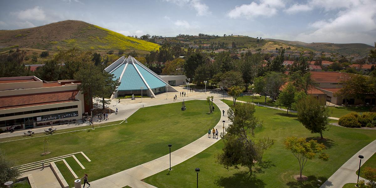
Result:
<svg viewBox="0 0 376 188"><path fill-rule="evenodd" d="M20 124L24 124L25 126L30 124L32 127L33 123L37 121L48 121L48 120L53 121L53 120L57 120L61 118L77 117L77 116L78 116L78 111L73 111L73 112L63 112L59 114L34 116L34 117L28 117L28 118L18 118L18 119L13 119L13 120L0 121L0 127L18 126Z"/></svg>

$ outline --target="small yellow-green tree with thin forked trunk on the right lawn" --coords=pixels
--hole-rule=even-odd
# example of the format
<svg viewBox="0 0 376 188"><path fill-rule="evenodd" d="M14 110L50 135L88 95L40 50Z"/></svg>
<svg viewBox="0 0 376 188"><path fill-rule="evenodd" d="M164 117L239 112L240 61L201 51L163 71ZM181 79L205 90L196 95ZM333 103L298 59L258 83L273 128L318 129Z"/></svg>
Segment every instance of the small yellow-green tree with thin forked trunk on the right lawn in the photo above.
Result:
<svg viewBox="0 0 376 188"><path fill-rule="evenodd" d="M326 149L324 144L317 143L315 140L306 141L305 138L291 136L284 139L284 145L285 148L290 150L299 161L300 179L302 178L303 168L308 159L311 160L316 158L318 153L320 154L318 158L321 160L327 161L329 158L326 153L323 153L323 150Z"/></svg>

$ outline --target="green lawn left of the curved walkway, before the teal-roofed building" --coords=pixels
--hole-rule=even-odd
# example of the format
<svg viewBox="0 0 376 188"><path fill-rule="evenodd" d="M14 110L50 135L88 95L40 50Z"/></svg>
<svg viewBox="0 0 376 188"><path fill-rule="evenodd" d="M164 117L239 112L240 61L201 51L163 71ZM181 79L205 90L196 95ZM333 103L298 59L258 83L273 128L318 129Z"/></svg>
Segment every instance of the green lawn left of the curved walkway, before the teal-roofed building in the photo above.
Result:
<svg viewBox="0 0 376 188"><path fill-rule="evenodd" d="M15 165L82 151L91 159L88 162L76 155L85 170L74 160L66 160L77 176L87 173L93 181L166 155L168 144L173 145L172 151L177 150L220 120L220 111L208 114L206 101L186 101L185 105L186 111L180 110L181 103L147 107L130 116L128 123L49 136L51 154L47 156L41 156L44 137L0 143L0 148L6 149ZM72 179L67 179L73 186Z"/></svg>

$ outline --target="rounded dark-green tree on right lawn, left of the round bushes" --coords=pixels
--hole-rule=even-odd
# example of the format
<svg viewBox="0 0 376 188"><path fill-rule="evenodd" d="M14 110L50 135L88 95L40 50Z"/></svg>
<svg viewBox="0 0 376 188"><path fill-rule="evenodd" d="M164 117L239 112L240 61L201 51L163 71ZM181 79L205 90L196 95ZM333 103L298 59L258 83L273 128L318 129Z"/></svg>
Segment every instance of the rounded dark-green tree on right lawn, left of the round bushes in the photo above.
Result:
<svg viewBox="0 0 376 188"><path fill-rule="evenodd" d="M329 109L326 108L325 102L307 96L297 103L296 109L300 123L311 133L320 133L323 139L323 131L329 129Z"/></svg>

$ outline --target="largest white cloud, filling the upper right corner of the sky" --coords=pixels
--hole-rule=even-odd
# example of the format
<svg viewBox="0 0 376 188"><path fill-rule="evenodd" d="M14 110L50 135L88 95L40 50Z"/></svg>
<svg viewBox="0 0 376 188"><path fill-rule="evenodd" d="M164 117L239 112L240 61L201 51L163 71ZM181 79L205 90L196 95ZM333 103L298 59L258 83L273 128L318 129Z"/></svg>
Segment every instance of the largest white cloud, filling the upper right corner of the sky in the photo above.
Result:
<svg viewBox="0 0 376 188"><path fill-rule="evenodd" d="M339 11L334 19L309 24L315 30L301 33L296 39L306 42L357 41L369 44L376 36L376 5L373 0L364 0L360 5L354 5Z"/></svg>

